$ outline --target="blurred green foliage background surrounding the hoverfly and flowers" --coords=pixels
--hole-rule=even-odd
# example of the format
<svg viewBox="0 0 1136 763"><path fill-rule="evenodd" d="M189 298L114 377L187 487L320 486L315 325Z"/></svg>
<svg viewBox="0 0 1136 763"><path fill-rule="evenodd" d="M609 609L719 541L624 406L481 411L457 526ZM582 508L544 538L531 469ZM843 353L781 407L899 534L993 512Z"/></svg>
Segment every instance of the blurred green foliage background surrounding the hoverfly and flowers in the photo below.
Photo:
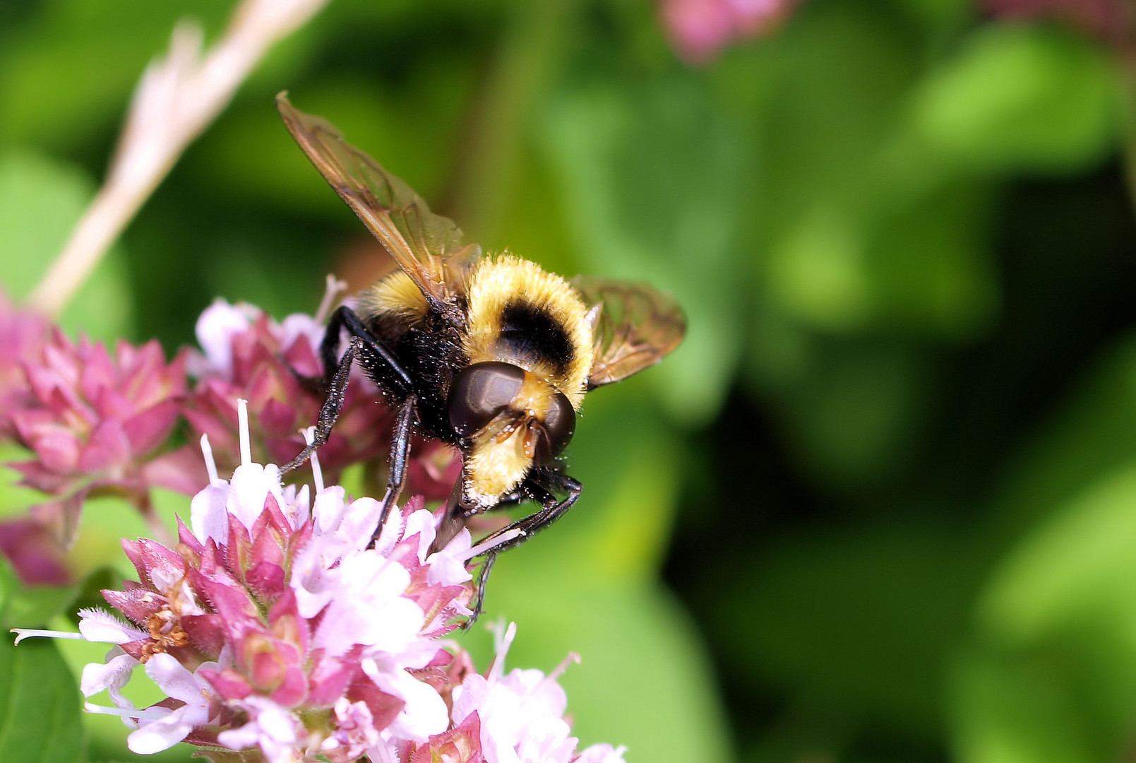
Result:
<svg viewBox="0 0 1136 763"><path fill-rule="evenodd" d="M215 38L232 5L0 2L10 295L92 196L175 20ZM376 244L281 125L287 89L486 248L686 308L671 358L590 396L583 499L488 592L486 621L518 622L512 666L583 656L563 683L584 744L1131 760L1129 53L966 0L805 0L692 67L646 0L332 0L64 322L173 351L216 296L283 316L328 272L366 284ZM93 569L145 530L109 507L83 532ZM488 637L466 641L487 664ZM73 670L101 658L64 647ZM106 720L84 718L91 760L135 760Z"/></svg>

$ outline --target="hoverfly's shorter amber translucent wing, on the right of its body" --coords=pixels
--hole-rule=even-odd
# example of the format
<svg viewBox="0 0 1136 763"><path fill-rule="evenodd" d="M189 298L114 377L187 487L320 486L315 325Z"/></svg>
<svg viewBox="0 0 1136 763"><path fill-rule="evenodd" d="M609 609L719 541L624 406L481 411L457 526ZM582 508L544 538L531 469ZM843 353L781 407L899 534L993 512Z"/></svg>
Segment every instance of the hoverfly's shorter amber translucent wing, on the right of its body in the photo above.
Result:
<svg viewBox="0 0 1136 763"><path fill-rule="evenodd" d="M577 276L573 285L594 316L590 388L654 365L678 347L686 333L686 317L678 304L645 283Z"/></svg>

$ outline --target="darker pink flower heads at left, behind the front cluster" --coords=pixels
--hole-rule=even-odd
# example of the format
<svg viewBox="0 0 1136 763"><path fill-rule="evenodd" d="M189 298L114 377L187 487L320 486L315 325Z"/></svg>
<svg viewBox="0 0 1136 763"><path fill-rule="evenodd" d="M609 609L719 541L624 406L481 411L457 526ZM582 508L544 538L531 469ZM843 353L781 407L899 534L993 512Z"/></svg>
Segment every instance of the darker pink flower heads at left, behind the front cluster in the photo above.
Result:
<svg viewBox="0 0 1136 763"><path fill-rule="evenodd" d="M335 293L329 284L327 305ZM295 314L277 323L258 308L218 300L201 315L197 334L202 351L183 351L167 364L154 341L119 341L114 351L86 339L73 342L0 297L0 441L12 439L32 453L9 466L23 484L44 494L32 519L60 547L74 541L84 501L108 494L127 499L151 521L154 537L164 537L151 489L192 496L208 482L195 446L166 445L183 418L195 436L209 436L226 471L241 462L239 398L249 401L256 459L286 463L303 449L300 431L316 421L323 403L316 381L323 376L319 320ZM197 379L192 389L186 372ZM390 437L391 416L378 391L357 375L320 448L328 476L337 481L343 468L362 462L377 478ZM416 442L414 454L408 489L428 500L445 498L460 458L437 442ZM43 553L24 550L33 537ZM0 551L26 582L65 582L61 557L43 540L26 520L0 523Z"/></svg>

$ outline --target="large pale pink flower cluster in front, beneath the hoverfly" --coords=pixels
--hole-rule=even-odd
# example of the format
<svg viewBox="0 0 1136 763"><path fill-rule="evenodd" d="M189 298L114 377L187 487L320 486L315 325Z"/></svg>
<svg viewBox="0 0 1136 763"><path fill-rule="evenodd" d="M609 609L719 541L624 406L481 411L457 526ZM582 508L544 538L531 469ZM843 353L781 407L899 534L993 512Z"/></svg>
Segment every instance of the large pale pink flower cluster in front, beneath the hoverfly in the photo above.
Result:
<svg viewBox="0 0 1136 763"><path fill-rule="evenodd" d="M242 423L248 421L240 409ZM247 423L242 447L248 448ZM191 503L176 550L124 541L139 582L103 591L126 621L80 613L80 633L28 636L114 644L83 671L134 728L128 745L154 753L178 741L245 750L242 760L620 763L623 749L577 753L558 673L503 673L504 636L485 675L440 637L469 614L470 547L463 530L431 553L436 517L411 499L371 537L381 506L323 486L282 487L278 470L247 461ZM136 708L123 695L135 669L168 696Z"/></svg>

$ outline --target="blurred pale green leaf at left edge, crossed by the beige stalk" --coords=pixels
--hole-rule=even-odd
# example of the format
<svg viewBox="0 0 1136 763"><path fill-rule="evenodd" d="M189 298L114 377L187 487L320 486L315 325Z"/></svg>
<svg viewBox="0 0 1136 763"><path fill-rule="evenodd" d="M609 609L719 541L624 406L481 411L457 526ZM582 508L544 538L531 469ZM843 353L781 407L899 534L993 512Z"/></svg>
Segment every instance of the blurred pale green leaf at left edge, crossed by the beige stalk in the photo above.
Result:
<svg viewBox="0 0 1136 763"><path fill-rule="evenodd" d="M31 151L0 154L0 284L22 299L47 271L94 194L81 171ZM123 252L111 248L64 310L75 337L105 341L132 333Z"/></svg>

